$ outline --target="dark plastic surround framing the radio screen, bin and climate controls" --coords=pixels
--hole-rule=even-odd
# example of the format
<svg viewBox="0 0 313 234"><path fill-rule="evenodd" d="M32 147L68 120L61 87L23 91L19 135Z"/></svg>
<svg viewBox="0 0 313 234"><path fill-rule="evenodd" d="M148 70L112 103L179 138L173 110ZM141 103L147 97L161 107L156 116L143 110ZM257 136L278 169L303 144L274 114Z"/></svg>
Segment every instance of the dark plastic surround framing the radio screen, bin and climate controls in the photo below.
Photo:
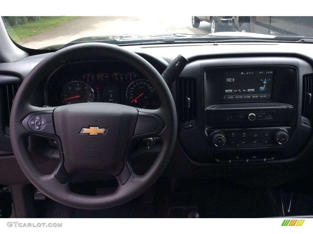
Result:
<svg viewBox="0 0 313 234"><path fill-rule="evenodd" d="M242 55L241 55L242 56ZM234 66L286 66L286 67L294 67L297 71L297 77L299 77L299 80L296 80L295 90L292 90L292 97L290 97L289 100L286 100L285 103L273 103L273 101L253 101L248 102L246 104L241 105L249 105L252 109L253 107L256 107L257 105L265 105L272 104L278 106L285 105L285 108L291 108L293 107L292 117L287 113L288 116L286 118L282 118L279 121L272 121L272 123L265 121L262 123L261 121L248 121L248 122L231 122L229 124L226 124L224 122L224 115L220 116L220 119L218 122L212 122L210 119L206 118L206 112L205 109L209 106L230 106L233 105L234 109L235 107L238 107L239 103L225 103L223 104L221 99L222 96L214 97L213 99L218 100L217 102L212 102L213 99L208 99L210 102L209 104L206 103L205 99L205 77L204 77L204 71L206 69L215 68L215 67L234 67ZM301 123L301 104L302 104L302 76L304 74L311 73L312 66L299 58L295 57L280 57L280 56L272 56L272 57L233 57L233 58L214 58L214 59L201 59L198 61L193 61L189 63L184 71L182 72L182 77L191 77L194 79L197 79L198 82L198 106L202 106L203 108L199 108L198 110L198 124L196 127L191 129L182 130L178 133L178 140L182 145L182 148L187 154L187 157L191 159L191 161L199 162L199 163L206 163L208 167L212 167L214 164L216 164L216 160L214 158L214 155L216 154L228 154L228 153L236 153L238 152L251 152L251 150L256 150L255 148L246 147L244 149L216 149L211 144L211 139L209 139L206 136L206 129L212 129L215 131L223 131L223 129L229 129L229 128L236 128L236 129L250 129L250 128L268 128L268 127L275 127L275 128L281 128L284 126L289 126L291 128L292 136L289 139L289 142L283 146L277 146L275 147L275 150L279 155L282 155L279 160L283 160L284 158L293 158L296 156L300 150L305 146L306 142L308 141L310 134L311 134L311 127L306 126L305 124ZM297 78L298 79L298 78ZM213 87L213 89L219 89L221 87ZM274 94L275 96L275 94ZM294 97L297 96L298 98L295 99ZM287 98L288 99L288 98ZM274 100L275 101L275 100ZM293 102L293 103L291 103ZM292 104L292 105L291 105ZM237 106L236 106L237 105ZM218 118L216 118L218 119ZM192 137L191 137L192 136ZM239 147L238 147L239 148ZM260 152L266 152L266 151L273 151L274 147L257 147L257 150ZM275 160L272 161L275 163ZM262 162L260 162L262 163ZM269 163L269 162L267 162ZM223 163L219 163L221 166ZM240 164L240 163L239 163ZM238 166L237 163L235 164L225 164L226 167L229 166Z"/></svg>

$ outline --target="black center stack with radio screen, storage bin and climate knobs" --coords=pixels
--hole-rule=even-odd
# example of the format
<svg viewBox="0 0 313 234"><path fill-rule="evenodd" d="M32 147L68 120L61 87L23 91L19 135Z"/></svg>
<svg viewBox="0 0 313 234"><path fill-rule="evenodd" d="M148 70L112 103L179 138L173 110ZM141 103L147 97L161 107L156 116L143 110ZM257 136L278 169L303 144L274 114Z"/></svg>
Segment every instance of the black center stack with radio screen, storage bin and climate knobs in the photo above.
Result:
<svg viewBox="0 0 313 234"><path fill-rule="evenodd" d="M295 130L297 97L294 66L205 69L203 130L208 144L215 149L273 152L288 144Z"/></svg>

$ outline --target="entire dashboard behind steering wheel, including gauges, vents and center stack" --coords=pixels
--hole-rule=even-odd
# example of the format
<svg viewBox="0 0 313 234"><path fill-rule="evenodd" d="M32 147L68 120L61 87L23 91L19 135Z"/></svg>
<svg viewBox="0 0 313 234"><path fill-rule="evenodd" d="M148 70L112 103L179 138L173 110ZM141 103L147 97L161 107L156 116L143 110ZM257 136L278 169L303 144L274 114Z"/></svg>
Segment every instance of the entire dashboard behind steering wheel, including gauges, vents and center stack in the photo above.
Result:
<svg viewBox="0 0 313 234"><path fill-rule="evenodd" d="M261 179L254 180L254 185L275 185L312 173L312 45L203 43L123 47L145 58L160 74L178 54L189 60L170 85L177 107L178 138L165 175L240 177L247 184L251 176L259 176ZM4 85L25 79L48 55L0 64L1 90L7 89ZM160 105L149 77L121 61L64 63L34 90L40 98L34 98L33 104L38 106L114 102L156 109ZM5 111L1 110L1 124L5 126ZM3 131L0 141L0 160L4 160L13 154L7 132ZM146 160L147 155L155 154L153 150L151 147L140 154ZM20 171L16 162L10 163L14 165L11 168ZM0 163L0 170L6 171L1 165L7 164ZM19 181L1 176L2 181Z"/></svg>

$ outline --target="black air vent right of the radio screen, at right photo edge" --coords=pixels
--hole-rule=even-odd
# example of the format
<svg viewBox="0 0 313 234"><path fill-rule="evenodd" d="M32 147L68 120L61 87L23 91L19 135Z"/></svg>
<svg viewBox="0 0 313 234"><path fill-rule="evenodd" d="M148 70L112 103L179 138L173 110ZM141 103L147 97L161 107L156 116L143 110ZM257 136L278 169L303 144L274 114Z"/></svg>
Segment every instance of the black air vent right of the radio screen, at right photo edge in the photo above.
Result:
<svg viewBox="0 0 313 234"><path fill-rule="evenodd" d="M305 124L310 124L310 117L311 117L311 106L312 106L312 81L313 81L313 74L308 74L303 76L302 80L302 122Z"/></svg>

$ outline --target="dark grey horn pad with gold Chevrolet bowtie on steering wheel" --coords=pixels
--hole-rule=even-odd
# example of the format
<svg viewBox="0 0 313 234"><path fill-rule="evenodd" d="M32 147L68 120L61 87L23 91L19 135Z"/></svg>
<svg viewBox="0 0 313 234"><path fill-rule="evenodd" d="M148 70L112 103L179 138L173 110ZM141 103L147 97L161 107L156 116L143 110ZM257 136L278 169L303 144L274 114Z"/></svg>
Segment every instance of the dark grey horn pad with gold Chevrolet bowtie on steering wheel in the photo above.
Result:
<svg viewBox="0 0 313 234"><path fill-rule="evenodd" d="M57 107L53 116L67 173L121 173L126 147L136 127L136 108L79 103Z"/></svg>

